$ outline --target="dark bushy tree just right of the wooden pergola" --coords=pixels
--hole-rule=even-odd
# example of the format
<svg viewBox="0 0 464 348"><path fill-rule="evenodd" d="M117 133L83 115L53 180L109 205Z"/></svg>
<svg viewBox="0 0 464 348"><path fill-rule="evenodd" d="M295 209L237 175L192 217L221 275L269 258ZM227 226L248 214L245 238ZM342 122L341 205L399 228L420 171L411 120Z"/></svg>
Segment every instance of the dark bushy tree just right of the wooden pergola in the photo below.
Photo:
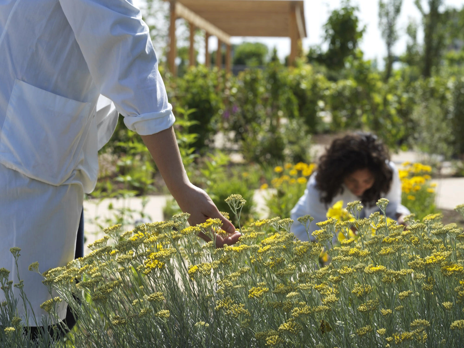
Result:
<svg viewBox="0 0 464 348"><path fill-rule="evenodd" d="M329 69L343 68L345 59L354 55L362 39L366 27L360 27L358 10L345 0L342 8L332 11L324 25L324 41L329 43L329 49L323 54L323 62Z"/></svg>

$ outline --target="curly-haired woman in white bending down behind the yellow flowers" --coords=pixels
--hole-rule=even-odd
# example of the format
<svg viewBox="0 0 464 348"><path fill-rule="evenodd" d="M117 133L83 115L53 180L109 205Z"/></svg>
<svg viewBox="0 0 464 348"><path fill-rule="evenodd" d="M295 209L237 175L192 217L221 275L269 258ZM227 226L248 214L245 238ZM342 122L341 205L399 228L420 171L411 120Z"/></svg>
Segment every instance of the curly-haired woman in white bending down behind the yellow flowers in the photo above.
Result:
<svg viewBox="0 0 464 348"><path fill-rule="evenodd" d="M403 223L403 217L410 212L401 205L400 176L386 146L371 133L336 138L321 156L317 171L309 177L303 196L291 210L291 232L307 241L306 229L297 218L309 214L314 217L309 238L315 241L312 233L318 230L316 223L327 220L327 211L336 202L342 200L346 208L349 202L361 201L362 218L379 210L375 203L382 197L390 201L386 215Z"/></svg>

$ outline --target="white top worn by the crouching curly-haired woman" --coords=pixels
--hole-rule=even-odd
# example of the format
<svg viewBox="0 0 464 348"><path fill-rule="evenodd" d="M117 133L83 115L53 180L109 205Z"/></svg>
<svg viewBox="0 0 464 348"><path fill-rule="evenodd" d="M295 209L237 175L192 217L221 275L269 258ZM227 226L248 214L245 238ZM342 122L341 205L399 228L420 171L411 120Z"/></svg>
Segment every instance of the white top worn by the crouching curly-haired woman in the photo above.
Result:
<svg viewBox="0 0 464 348"><path fill-rule="evenodd" d="M393 170L392 184L390 186L390 190L384 193L381 197L385 197L390 201L386 210L387 217L396 220L396 213L409 214L410 212L405 206L401 205L401 180L398 169L396 169L393 162L389 162L388 165ZM303 224L299 223L296 219L309 214L314 217L314 221L309 225L308 231L311 240L314 241L315 238L312 236L312 233L315 230L319 230L316 223L327 220L327 210L332 205L338 201L343 201L343 208L346 208L348 203L360 200L360 198L348 190L344 184L342 184L342 188L343 192L337 194L332 199L332 202L329 204L322 203L320 200L321 191L316 188L316 172L314 172L311 177L309 177L303 196L291 210L290 217L294 220L294 223L291 226L290 231L293 232L298 239L307 241L308 236L306 234L306 229ZM361 210L361 218L369 217L369 215L375 211L380 211L377 205L374 205L373 207L364 207L363 210Z"/></svg>

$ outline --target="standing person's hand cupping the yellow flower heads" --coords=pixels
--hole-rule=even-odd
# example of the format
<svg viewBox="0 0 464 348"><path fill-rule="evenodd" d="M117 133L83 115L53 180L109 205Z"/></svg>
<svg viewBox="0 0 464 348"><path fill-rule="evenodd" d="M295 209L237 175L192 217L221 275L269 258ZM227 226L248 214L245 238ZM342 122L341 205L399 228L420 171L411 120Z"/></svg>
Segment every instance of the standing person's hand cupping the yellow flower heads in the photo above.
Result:
<svg viewBox="0 0 464 348"><path fill-rule="evenodd" d="M222 248L224 244L232 245L237 243L238 238L241 236L240 232L236 231L233 224L219 212L204 190L189 183L181 190L179 197L174 198L176 198L180 209L190 214L188 223L191 226L204 223L208 218L221 220L221 228L228 233L228 236L222 237L216 234L216 248ZM211 240L211 238L203 233L200 233L198 236L206 242Z"/></svg>

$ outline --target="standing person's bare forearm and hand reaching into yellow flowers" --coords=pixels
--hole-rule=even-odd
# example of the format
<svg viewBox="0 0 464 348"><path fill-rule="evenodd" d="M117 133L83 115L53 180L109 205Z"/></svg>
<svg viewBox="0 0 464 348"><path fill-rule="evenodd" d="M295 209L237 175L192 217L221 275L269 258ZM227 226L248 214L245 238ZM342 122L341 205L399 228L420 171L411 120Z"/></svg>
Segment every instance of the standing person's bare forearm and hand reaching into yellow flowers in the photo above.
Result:
<svg viewBox="0 0 464 348"><path fill-rule="evenodd" d="M152 135L144 135L142 140L180 209L190 214L188 219L190 225L203 223L207 218L218 218L223 223L222 229L229 235L225 238L216 236L216 246L236 243L240 233L235 231L232 223L219 213L206 192L190 183L180 158L173 127ZM209 238L203 234L200 234L200 237L209 241Z"/></svg>

